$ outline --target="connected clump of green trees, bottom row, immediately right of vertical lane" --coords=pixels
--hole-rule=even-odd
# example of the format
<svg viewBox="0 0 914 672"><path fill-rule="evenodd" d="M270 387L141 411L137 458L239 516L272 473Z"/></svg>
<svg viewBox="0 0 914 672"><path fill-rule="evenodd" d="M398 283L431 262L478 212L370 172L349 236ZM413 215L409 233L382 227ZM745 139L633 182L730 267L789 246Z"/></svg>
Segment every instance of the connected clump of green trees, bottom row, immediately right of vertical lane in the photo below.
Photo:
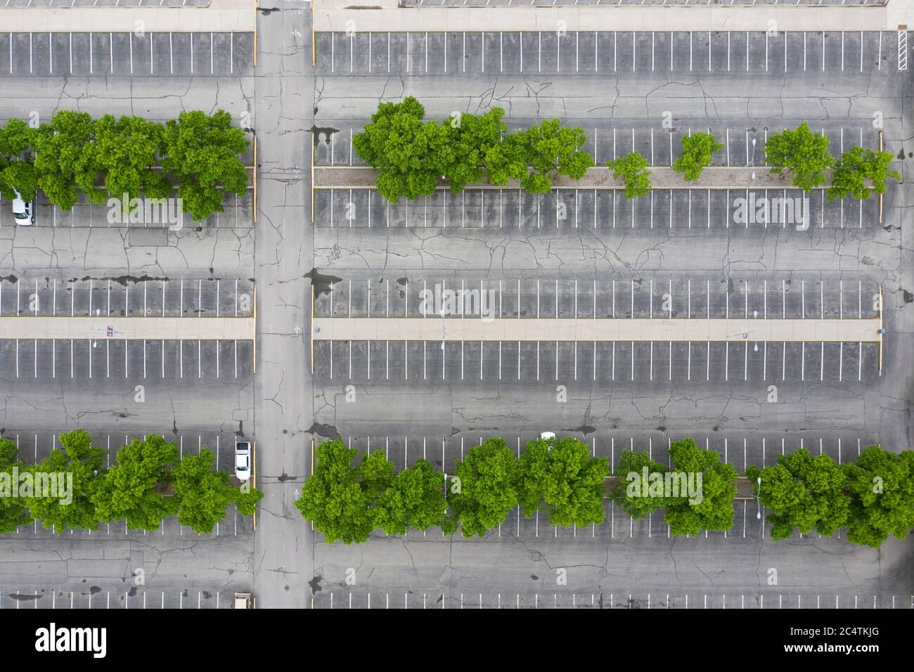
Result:
<svg viewBox="0 0 914 672"><path fill-rule="evenodd" d="M329 542L365 541L374 529L403 534L430 527L445 534L460 527L464 537L482 537L517 506L527 517L543 512L550 523L566 527L599 523L606 515L609 463L591 457L590 448L572 437L537 439L519 458L504 439L488 439L455 465L447 484L424 459L394 474L394 465L376 451L353 466L356 449L342 441L321 443L315 456L314 474L295 506Z"/></svg>

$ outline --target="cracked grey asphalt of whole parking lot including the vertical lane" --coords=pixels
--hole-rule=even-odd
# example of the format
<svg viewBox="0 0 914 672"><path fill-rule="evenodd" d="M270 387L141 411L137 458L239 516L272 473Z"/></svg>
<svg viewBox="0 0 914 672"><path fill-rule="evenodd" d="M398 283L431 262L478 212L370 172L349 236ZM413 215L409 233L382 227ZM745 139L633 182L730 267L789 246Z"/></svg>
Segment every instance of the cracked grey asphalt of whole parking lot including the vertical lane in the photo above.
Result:
<svg viewBox="0 0 914 672"><path fill-rule="evenodd" d="M5 80L22 94L0 101L0 118L21 115L24 98L42 117L58 107L155 119L183 109L223 107L250 123L260 145L253 228L250 221L236 220L140 235L137 229L90 226L84 219L70 226L55 226L52 219L48 226L45 218L32 229L14 229L0 219L3 315L15 312L6 302L20 279L25 284L38 279L39 293L46 296L48 283L55 286L55 281L62 287L74 278L85 279L94 286L126 277L133 310L143 283L138 279L144 277L153 283L166 278L169 285L182 278L228 284L253 279L258 287L256 376L253 352L242 354L236 379L226 369L231 353L169 351L168 357L151 356L153 366L165 361L165 375L145 380L141 405L133 401L134 384L141 382L133 380L137 368L121 378L124 368L115 367L112 378L98 368L98 359L89 364L88 351L76 351L70 379L69 352L54 360L63 368L61 376L59 369L48 372L44 350L4 344L4 435L15 436L27 458L40 459L58 432L77 424L112 446L122 434L171 431L183 450L218 442L220 460L225 460L233 436L243 432L258 442L258 487L266 496L256 532L232 517L207 537L190 534L174 520L145 535L124 534L113 526L99 530L101 537L95 532L55 537L25 529L0 545L0 607L62 607L70 600L92 607L133 608L142 601L148 606L227 607L235 591L255 592L259 607L729 608L831 606L835 601L851 606L856 600L888 606L895 597L900 605L909 605L914 586L910 539L890 540L878 550L853 546L842 535L807 535L775 544L755 518L753 503L737 505L735 526L727 534L696 539L670 539L661 517L632 521L611 507L603 525L587 529L555 529L538 517L514 512L485 539L443 539L429 530L402 539L376 535L366 544L346 547L326 545L292 502L309 474L312 441L324 438L341 438L363 450L383 449L398 466L425 456L445 470L487 436L503 435L509 445L520 447L542 430L574 433L611 462L626 448L649 450L662 460L671 440L690 435L739 469L753 462L770 464L777 454L801 444L844 461L870 443L907 448L914 292L909 270L914 241L902 226L910 198L907 182L888 188L881 226L873 204L861 211L848 203L828 206L824 226L806 231L759 225L688 229L680 226L682 203L677 206L671 195L658 199L657 212L638 204L615 229L605 202L582 206L583 219L597 213L596 227L530 226L537 211L526 203L526 219L518 215L505 229L492 226L494 209L485 213L485 227L460 228L452 225L459 206L451 203L447 227L418 226L417 204L410 207L409 228L405 221L403 226L379 226L382 219L376 218L368 229L365 222L329 226L329 205L320 198L311 220L307 152L317 144L319 161L339 163L345 150L337 152L347 148L349 129L357 131L378 101L409 94L426 104L433 117L494 104L505 107L512 126L560 115L585 129L598 129L600 160L611 155L612 129L620 129L620 147L628 146L622 144L623 135L625 143L631 142L632 128L635 144L648 147L650 129L659 131L668 111L680 133L684 128L730 129L730 165L744 165L738 157L746 152L746 129L763 137L766 129L806 119L828 133L845 129L848 138L866 129L865 143L871 144L877 137L872 115L881 112L886 147L898 155L898 169L908 180L914 151L909 146L914 142L910 71L898 72L890 54L881 66L868 56L863 72L823 72L812 60L815 67L805 71L795 60L787 73L776 68L747 73L737 67L741 63L745 68L745 61L735 61L737 66L728 71L718 50L728 37L721 33L713 37L711 73L697 66L652 72L639 65L633 71L632 60L650 62L651 42L638 36L626 43L636 49L632 60L622 61L627 68L601 65L599 73L567 70L564 52L558 73L558 61L545 56L546 66L536 73L521 74L519 62L507 73L490 73L493 61L487 52L485 72L471 59L466 74L454 72L453 66L444 74L443 64L435 60L441 53L432 51L430 72L437 74L408 74L399 56L398 67L389 74L377 67L368 74L367 59L359 60L360 69L350 74L348 69L330 71L329 42L321 35L313 69L311 16L303 6L285 3L282 9L261 11L258 21L260 53L253 75L244 70L198 79L80 74ZM848 38L852 47L860 44L855 38ZM734 44L739 39L745 34L734 34ZM675 40L674 46L685 44L678 34ZM346 41L342 44L348 47ZM834 51L835 44L831 40L827 48ZM866 35L862 44L876 42ZM739 45L735 53L746 43ZM753 37L750 47L759 45ZM683 63L681 58L677 55L675 63ZM760 62L753 51L753 68ZM328 151L327 144L335 149ZM658 144L658 163L669 160L664 151ZM556 217L555 201L551 203L538 213L544 221ZM696 206L695 217L713 211L716 219L724 219L728 207L723 201L708 202ZM397 211L391 221L399 222L403 214ZM856 226L858 214L861 227ZM674 216L675 226L665 226ZM664 225L645 225L653 217ZM781 309L779 302L788 314L853 314L858 293L863 297L860 310L867 314L867 297L881 285L887 326L884 371L880 377L877 353L871 349L839 353L820 344L802 351L772 347L764 353L748 346L706 349L704 344L691 350L685 344L675 349L656 344L650 350L628 344L616 349L582 344L574 350L505 344L497 352L465 344L441 352L423 350L420 344L363 342L351 344L351 351L350 344L315 347L312 376L306 334L313 293L321 315L331 309L335 314L351 309L354 315L368 310L376 316L387 310L414 313L423 282L449 287L483 282L490 288L501 283L502 315L524 318L537 310L553 315L557 300L561 315L575 304L589 311L584 306L594 300L590 287L596 288L599 304L592 310L598 315L650 315L666 288L672 288L679 315L690 310L701 315L706 308L696 306L703 301L713 314L764 305L774 312ZM507 288L518 282L522 293L514 296ZM577 290L572 289L576 282ZM789 299L778 294L782 282L789 283ZM764 286L768 304L760 293ZM703 287L711 288L707 296ZM684 305L686 295L695 302L691 307ZM807 303L798 307L801 295ZM125 307L117 304L112 314ZM228 358L219 359L216 378L215 357L223 355ZM115 359L122 356L118 351ZM135 361L133 353L130 361ZM181 367L193 375L175 373ZM778 386L777 403L768 400L770 385ZM355 403L345 401L347 386L355 390ZM564 386L567 401L558 400L558 386ZM780 577L776 586L767 581L771 568ZM143 569L143 583L136 581L137 569ZM566 583L557 581L562 569Z"/></svg>

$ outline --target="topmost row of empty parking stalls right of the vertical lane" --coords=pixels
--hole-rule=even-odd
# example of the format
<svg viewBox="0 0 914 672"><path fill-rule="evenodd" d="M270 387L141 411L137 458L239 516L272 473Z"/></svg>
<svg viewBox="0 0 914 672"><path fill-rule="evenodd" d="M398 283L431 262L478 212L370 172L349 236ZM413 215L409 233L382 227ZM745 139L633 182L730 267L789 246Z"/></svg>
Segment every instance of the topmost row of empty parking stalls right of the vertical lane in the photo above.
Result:
<svg viewBox="0 0 914 672"><path fill-rule="evenodd" d="M898 69L892 32L536 31L318 33L318 75L714 72L873 74Z"/></svg>

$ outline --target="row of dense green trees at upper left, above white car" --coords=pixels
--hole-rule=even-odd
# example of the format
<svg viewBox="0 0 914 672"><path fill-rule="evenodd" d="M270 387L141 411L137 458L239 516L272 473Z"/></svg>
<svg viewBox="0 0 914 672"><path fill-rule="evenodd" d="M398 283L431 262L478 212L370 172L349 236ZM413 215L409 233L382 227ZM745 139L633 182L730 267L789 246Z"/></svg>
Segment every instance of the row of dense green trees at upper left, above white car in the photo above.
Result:
<svg viewBox="0 0 914 672"><path fill-rule="evenodd" d="M31 200L38 189L62 210L110 197L181 198L193 219L222 211L227 193L248 188L242 155L250 145L231 115L181 112L166 123L138 116L93 119L56 112L49 123L10 119L0 128L0 195ZM127 204L123 204L126 208Z"/></svg>

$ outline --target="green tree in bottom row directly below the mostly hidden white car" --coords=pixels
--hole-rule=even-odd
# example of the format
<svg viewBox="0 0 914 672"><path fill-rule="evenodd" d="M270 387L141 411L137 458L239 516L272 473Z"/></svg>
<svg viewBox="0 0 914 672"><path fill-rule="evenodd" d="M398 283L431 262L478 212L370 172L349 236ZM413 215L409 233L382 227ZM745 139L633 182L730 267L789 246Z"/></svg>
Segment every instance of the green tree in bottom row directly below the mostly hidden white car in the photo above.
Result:
<svg viewBox="0 0 914 672"><path fill-rule="evenodd" d="M526 444L520 458L518 491L524 515L545 511L550 525L570 528L601 523L603 480L610 473L605 457L591 457L590 448L573 436Z"/></svg>

